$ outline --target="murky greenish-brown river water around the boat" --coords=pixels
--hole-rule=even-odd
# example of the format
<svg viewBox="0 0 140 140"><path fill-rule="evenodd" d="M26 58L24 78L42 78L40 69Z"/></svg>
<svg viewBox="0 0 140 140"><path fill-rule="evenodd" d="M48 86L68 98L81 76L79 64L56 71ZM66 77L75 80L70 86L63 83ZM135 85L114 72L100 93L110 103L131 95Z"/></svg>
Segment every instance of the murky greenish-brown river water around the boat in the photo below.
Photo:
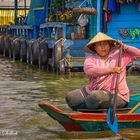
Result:
<svg viewBox="0 0 140 140"><path fill-rule="evenodd" d="M140 75L127 76L130 92L140 93ZM83 73L57 75L9 59L0 58L0 140L116 139L111 131L66 132L38 107L49 101L70 111L65 94L87 83ZM120 130L128 139L140 139L140 129Z"/></svg>

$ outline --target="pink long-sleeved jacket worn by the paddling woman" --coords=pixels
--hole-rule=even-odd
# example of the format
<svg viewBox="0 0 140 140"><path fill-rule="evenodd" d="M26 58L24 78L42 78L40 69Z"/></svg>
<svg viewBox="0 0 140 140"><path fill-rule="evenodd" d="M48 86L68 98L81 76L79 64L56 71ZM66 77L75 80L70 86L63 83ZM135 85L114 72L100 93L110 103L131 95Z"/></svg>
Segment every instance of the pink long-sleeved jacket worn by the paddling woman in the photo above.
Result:
<svg viewBox="0 0 140 140"><path fill-rule="evenodd" d="M98 55L86 58L84 62L84 72L88 76L89 83L86 91L90 94L93 90L107 90L115 93L116 75L110 73L110 67L118 64L119 51L111 52L106 61ZM131 46L124 45L119 79L118 95L129 102L129 89L126 83L126 65L134 60L140 59L140 50Z"/></svg>

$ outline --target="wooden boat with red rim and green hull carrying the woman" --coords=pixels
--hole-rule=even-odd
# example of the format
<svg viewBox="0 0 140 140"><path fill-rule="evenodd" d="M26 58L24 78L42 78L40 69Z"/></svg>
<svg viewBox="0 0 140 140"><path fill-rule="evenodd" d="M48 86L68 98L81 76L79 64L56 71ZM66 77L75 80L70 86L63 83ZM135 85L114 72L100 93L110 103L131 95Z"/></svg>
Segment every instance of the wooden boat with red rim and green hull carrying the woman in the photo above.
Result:
<svg viewBox="0 0 140 140"><path fill-rule="evenodd" d="M39 106L67 131L109 130L106 123L106 110L66 113L48 102L40 102ZM140 128L140 95L131 96L128 108L117 110L116 116L119 129Z"/></svg>

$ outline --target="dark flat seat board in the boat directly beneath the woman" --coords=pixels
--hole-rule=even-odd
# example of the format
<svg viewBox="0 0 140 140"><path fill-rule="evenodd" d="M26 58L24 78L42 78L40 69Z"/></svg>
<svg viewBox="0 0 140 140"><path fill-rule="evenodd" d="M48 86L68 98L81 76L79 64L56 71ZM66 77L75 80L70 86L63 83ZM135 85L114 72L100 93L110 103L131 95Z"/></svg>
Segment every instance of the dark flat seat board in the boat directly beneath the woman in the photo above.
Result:
<svg viewBox="0 0 140 140"><path fill-rule="evenodd" d="M117 113L126 113L130 111L132 108L117 108ZM86 112L86 113L105 113L108 109L77 109L79 112Z"/></svg>

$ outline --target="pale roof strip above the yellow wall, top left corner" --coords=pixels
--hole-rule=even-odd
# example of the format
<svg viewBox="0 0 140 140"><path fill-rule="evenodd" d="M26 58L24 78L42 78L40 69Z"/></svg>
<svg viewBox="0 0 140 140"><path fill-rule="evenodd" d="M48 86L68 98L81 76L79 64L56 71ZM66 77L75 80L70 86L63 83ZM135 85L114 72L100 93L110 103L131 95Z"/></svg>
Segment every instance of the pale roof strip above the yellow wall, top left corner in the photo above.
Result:
<svg viewBox="0 0 140 140"><path fill-rule="evenodd" d="M26 0L26 5L30 6L30 0ZM18 6L24 7L24 0L18 0ZM0 0L0 7L14 7L14 0Z"/></svg>

